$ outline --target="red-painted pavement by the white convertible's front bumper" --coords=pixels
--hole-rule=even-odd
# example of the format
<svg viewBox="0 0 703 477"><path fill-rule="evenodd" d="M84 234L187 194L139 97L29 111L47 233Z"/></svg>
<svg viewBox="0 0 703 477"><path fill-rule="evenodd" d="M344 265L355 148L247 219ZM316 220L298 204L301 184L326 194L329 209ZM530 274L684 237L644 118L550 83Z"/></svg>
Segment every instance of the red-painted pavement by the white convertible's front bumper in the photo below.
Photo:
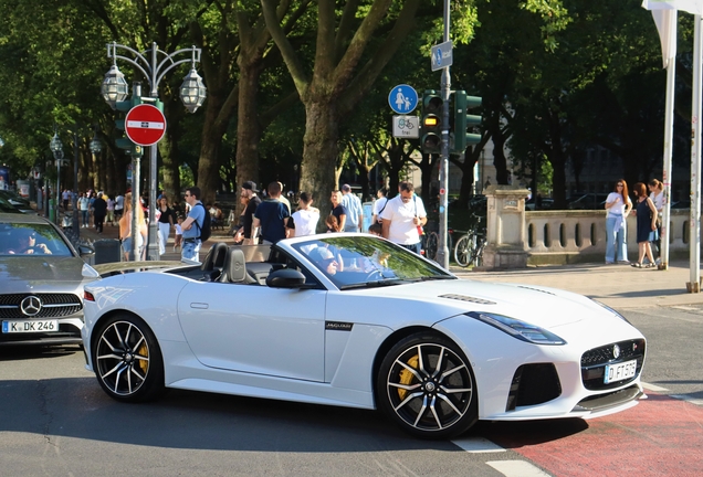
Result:
<svg viewBox="0 0 703 477"><path fill-rule="evenodd" d="M648 396L599 418L493 423L483 435L555 476L703 475L703 407Z"/></svg>

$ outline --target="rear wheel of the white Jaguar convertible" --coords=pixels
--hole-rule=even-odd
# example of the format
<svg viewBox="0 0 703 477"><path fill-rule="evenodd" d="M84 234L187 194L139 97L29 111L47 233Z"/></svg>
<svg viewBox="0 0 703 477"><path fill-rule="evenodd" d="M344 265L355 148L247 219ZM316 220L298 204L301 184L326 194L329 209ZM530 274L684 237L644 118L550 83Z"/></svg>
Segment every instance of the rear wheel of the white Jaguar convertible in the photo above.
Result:
<svg viewBox="0 0 703 477"><path fill-rule="evenodd" d="M117 315L98 329L93 368L103 390L122 402L151 401L164 392L164 358L146 322Z"/></svg>

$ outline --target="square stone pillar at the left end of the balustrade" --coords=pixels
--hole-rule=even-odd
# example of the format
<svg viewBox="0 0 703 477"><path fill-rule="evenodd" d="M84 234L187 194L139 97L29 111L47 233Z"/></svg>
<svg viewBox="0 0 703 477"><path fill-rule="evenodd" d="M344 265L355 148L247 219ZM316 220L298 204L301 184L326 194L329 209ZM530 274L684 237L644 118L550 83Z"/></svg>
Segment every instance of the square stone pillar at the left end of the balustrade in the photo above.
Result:
<svg viewBox="0 0 703 477"><path fill-rule="evenodd" d="M529 191L514 186L489 186L483 268L525 268L525 199Z"/></svg>

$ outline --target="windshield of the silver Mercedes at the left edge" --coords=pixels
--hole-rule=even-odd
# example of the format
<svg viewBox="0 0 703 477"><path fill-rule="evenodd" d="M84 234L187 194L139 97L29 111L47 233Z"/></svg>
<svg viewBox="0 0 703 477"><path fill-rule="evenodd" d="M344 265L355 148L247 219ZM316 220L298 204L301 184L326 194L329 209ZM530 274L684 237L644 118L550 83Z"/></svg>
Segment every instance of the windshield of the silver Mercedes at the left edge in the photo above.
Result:
<svg viewBox="0 0 703 477"><path fill-rule="evenodd" d="M73 256L50 224L0 223L0 256L9 255Z"/></svg>

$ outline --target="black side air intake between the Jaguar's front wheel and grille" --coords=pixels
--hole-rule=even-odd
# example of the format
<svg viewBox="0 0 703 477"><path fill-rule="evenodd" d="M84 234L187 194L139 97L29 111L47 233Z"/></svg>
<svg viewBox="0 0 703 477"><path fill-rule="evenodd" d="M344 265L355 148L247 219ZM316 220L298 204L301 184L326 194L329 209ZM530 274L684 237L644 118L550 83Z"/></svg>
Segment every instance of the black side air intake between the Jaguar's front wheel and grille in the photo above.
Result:
<svg viewBox="0 0 703 477"><path fill-rule="evenodd" d="M552 363L523 364L515 371L505 411L542 404L562 394L562 383Z"/></svg>

